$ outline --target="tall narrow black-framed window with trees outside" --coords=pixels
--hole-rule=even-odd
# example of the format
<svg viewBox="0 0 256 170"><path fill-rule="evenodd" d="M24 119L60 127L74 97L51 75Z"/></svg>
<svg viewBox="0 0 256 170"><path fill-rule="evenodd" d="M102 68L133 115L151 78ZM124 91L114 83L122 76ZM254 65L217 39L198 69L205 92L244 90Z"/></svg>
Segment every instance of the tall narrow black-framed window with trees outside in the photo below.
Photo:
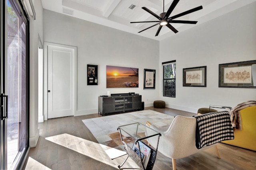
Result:
<svg viewBox="0 0 256 170"><path fill-rule="evenodd" d="M164 96L176 97L176 60L162 63L164 70Z"/></svg>

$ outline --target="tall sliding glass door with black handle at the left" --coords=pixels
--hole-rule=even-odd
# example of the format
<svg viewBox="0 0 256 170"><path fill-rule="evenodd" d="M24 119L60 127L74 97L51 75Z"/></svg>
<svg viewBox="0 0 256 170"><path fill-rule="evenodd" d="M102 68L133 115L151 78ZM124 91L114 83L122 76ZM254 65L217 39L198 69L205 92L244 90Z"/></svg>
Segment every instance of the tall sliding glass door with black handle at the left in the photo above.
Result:
<svg viewBox="0 0 256 170"><path fill-rule="evenodd" d="M28 149L28 24L19 1L1 1L1 163L16 169Z"/></svg>

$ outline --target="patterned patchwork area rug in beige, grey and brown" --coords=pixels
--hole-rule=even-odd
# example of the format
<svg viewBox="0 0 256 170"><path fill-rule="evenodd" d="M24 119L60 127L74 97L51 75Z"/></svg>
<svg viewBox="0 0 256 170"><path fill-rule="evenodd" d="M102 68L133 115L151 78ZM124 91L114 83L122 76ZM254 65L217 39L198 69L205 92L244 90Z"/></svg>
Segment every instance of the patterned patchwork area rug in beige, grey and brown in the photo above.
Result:
<svg viewBox="0 0 256 170"><path fill-rule="evenodd" d="M102 116L92 119L84 119L83 123L91 131L92 135L101 144L102 148L110 156L112 149L124 150L122 141L120 139L120 133L117 130L118 126L127 125L130 123L140 122L146 125L146 121L156 125L157 127L164 127L170 125L173 120L173 116L159 113L153 110L135 111L130 113L122 113L116 115ZM125 139L129 143L130 139ZM120 152L119 156L122 156L124 152ZM118 157L118 154L115 154Z"/></svg>

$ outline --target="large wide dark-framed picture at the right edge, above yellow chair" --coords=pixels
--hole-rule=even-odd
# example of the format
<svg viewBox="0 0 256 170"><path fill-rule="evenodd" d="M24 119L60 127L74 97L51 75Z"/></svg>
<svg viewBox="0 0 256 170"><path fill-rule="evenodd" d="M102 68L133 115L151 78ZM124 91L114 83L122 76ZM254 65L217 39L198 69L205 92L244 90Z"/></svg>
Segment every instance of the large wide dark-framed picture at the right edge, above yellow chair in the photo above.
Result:
<svg viewBox="0 0 256 170"><path fill-rule="evenodd" d="M219 64L219 87L256 88L256 60Z"/></svg>

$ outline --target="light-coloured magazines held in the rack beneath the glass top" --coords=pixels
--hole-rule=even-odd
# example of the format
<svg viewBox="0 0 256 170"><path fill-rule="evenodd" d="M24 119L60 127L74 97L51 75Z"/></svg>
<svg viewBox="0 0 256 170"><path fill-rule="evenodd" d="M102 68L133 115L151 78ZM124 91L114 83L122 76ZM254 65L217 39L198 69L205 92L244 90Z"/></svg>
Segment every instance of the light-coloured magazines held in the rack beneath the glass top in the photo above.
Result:
<svg viewBox="0 0 256 170"><path fill-rule="evenodd" d="M140 145L140 152L139 152L139 147L138 143ZM151 154L151 148L148 147L144 142L138 141L137 144L134 143L132 150L134 150L138 155L141 153L141 158L142 158L142 163L144 165L144 168L146 169L148 165L148 160L150 159L150 154Z"/></svg>

